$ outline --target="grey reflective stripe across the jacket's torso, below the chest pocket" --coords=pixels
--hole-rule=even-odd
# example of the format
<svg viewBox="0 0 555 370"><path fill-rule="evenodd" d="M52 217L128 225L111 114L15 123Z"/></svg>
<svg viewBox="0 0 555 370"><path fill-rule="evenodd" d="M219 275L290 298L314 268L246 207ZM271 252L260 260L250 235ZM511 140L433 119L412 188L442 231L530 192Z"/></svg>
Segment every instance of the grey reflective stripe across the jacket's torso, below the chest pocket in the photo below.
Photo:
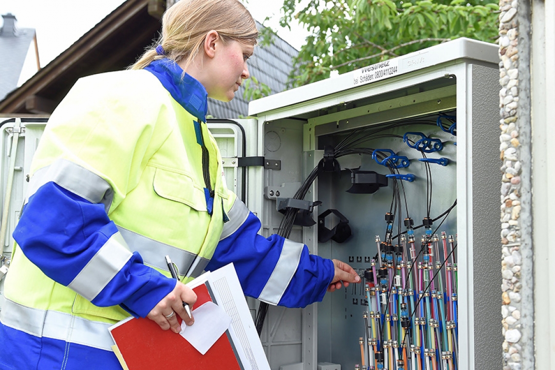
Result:
<svg viewBox="0 0 555 370"><path fill-rule="evenodd" d="M145 265L169 271L164 256L170 256L171 262L175 263L178 268L179 275L184 276L195 262L196 255L191 252L150 239L144 235L137 234L137 232L124 229L121 226L118 226L118 230L123 235L127 245L129 245L129 249L139 252L141 257L143 257ZM208 260L206 260L204 266L207 264Z"/></svg>

